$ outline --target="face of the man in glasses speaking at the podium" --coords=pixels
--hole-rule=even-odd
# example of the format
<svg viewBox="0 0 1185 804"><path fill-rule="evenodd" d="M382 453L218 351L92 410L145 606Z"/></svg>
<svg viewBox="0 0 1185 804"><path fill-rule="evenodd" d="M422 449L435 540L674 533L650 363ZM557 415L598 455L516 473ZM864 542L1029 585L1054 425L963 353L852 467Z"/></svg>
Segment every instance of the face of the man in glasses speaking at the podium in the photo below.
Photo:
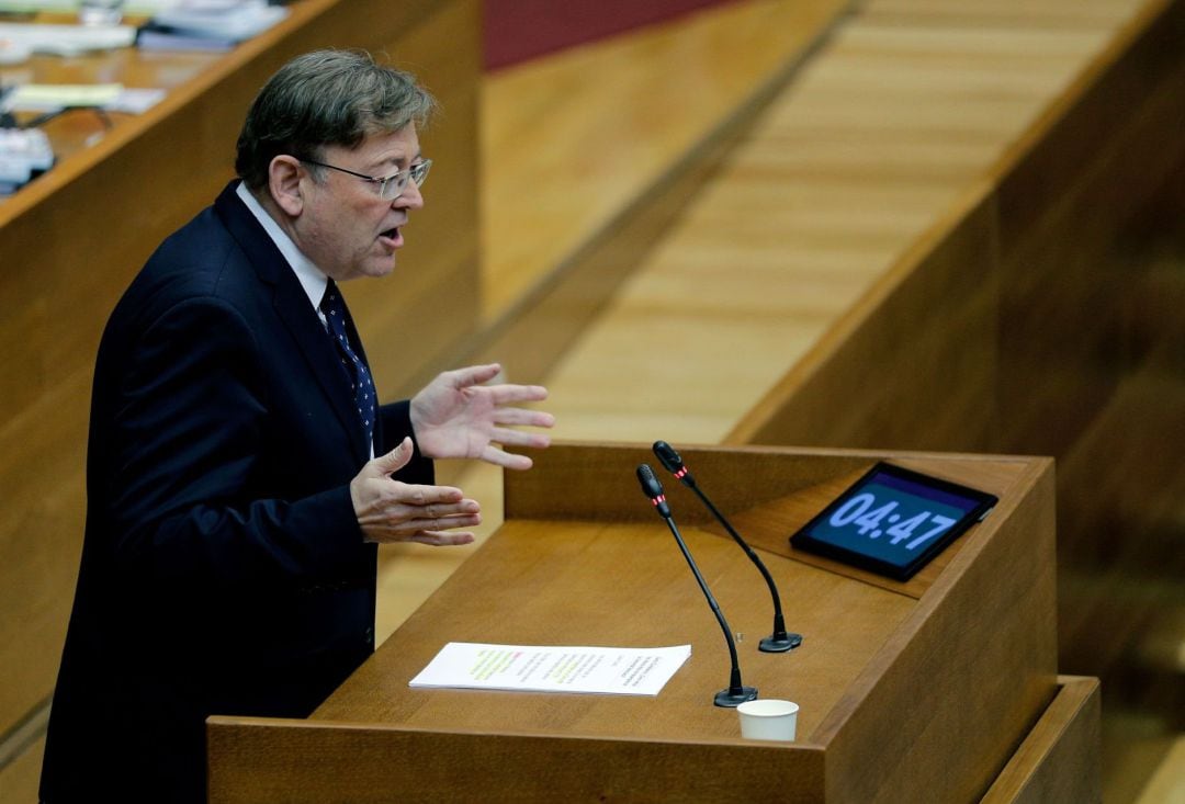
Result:
<svg viewBox="0 0 1185 804"><path fill-rule="evenodd" d="M353 149L327 146L318 159L326 165L382 178L405 171L419 160L415 126L393 134L373 134ZM300 179L305 205L293 221L297 247L337 282L359 276L386 276L395 270L395 252L403 247L403 226L411 210L424 205L419 188L409 181L389 201L379 198L374 182L302 165Z"/></svg>

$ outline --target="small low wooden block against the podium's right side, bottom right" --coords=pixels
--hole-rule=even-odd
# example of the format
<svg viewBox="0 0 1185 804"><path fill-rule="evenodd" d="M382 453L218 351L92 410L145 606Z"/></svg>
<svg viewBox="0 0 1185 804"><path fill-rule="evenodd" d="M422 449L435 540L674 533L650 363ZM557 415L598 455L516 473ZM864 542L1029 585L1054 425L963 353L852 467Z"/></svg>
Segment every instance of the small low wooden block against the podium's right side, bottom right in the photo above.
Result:
<svg viewBox="0 0 1185 804"><path fill-rule="evenodd" d="M1059 676L1057 696L982 804L1101 800L1098 680Z"/></svg>

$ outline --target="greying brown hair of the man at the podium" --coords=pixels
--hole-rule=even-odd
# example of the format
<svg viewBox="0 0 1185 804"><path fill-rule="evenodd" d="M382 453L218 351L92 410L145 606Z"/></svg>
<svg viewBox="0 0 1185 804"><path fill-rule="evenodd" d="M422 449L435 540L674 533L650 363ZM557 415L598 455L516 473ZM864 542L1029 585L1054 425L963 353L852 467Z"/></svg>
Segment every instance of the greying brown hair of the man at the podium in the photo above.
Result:
<svg viewBox="0 0 1185 804"><path fill-rule="evenodd" d="M354 148L371 134L423 127L435 108L415 76L377 64L369 53L305 53L280 67L251 103L235 171L260 189L280 154L316 159L325 146Z"/></svg>

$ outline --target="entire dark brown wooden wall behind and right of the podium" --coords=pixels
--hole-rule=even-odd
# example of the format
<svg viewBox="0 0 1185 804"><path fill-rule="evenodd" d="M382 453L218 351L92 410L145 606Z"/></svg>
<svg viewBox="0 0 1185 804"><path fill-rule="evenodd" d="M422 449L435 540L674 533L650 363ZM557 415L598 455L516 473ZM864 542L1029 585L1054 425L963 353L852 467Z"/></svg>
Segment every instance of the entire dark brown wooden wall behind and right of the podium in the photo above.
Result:
<svg viewBox="0 0 1185 804"><path fill-rule="evenodd" d="M1055 456L1059 669L1176 729L1181 53L1149 6L726 439Z"/></svg>

